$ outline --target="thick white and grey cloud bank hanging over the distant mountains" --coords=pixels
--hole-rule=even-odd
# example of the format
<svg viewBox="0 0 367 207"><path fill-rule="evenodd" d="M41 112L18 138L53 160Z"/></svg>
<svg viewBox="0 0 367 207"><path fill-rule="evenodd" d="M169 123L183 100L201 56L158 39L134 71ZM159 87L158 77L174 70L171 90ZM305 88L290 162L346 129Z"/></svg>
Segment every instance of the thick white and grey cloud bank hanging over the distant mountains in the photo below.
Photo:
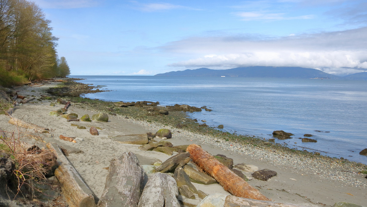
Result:
<svg viewBox="0 0 367 207"><path fill-rule="evenodd" d="M193 37L171 42L162 49L190 57L168 64L171 67L289 66L319 68L339 74L367 68L366 33L367 27L268 40L240 36Z"/></svg>

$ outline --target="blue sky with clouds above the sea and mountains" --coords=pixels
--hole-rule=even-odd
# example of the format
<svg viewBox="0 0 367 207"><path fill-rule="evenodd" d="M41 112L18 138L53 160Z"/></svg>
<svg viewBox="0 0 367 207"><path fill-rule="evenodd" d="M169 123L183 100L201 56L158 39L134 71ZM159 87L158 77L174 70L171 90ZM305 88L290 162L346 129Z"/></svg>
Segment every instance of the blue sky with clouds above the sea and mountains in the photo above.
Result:
<svg viewBox="0 0 367 207"><path fill-rule="evenodd" d="M367 71L366 0L33 0L70 75L248 66Z"/></svg>

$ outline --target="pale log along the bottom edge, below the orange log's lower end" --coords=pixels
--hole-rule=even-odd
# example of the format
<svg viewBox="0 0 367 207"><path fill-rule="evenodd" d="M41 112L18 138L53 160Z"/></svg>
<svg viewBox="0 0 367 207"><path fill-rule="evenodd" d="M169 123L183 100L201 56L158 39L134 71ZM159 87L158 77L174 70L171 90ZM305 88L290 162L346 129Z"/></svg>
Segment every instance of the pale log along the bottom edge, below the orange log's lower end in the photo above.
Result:
<svg viewBox="0 0 367 207"><path fill-rule="evenodd" d="M272 201L261 201L245 199L236 196L227 196L223 207L301 207L294 204L275 203Z"/></svg>

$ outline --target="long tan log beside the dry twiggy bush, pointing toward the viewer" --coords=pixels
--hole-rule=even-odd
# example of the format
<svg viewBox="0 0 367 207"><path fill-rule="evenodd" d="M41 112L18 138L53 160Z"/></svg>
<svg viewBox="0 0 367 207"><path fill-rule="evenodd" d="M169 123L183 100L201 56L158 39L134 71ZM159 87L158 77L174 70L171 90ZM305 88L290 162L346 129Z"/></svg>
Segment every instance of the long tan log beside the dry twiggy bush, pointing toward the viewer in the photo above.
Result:
<svg viewBox="0 0 367 207"><path fill-rule="evenodd" d="M61 184L62 194L70 207L95 207L95 195L83 181L79 173L55 143L47 143L47 147L56 154L59 167L55 176Z"/></svg>

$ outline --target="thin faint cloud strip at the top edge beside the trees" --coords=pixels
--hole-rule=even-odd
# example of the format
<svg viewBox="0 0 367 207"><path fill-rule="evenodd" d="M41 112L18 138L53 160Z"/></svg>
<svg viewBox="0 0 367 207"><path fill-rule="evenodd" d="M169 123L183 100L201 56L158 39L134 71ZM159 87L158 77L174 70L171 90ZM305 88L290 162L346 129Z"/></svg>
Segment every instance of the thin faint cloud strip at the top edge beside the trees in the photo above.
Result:
<svg viewBox="0 0 367 207"><path fill-rule="evenodd" d="M104 0L33 0L41 8L95 7Z"/></svg>

